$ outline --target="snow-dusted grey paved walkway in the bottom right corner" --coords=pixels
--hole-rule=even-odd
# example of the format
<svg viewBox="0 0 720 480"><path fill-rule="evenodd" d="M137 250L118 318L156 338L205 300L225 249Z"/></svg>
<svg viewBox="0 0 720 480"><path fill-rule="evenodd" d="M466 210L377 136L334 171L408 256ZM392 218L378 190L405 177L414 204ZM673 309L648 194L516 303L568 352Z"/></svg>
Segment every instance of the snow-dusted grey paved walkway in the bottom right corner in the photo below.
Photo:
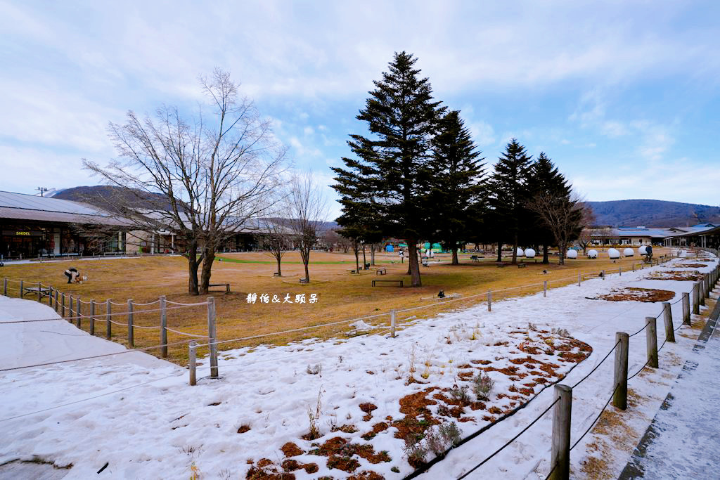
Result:
<svg viewBox="0 0 720 480"><path fill-rule="evenodd" d="M720 302L621 480L720 478L719 314Z"/></svg>

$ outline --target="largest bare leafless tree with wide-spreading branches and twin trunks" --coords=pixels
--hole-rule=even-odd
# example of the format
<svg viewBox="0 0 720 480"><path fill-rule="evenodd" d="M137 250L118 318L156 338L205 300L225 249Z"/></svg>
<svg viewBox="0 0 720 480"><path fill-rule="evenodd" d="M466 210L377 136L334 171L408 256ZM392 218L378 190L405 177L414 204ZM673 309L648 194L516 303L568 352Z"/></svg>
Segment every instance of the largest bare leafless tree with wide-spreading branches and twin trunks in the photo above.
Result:
<svg viewBox="0 0 720 480"><path fill-rule="evenodd" d="M109 124L120 160L104 167L84 160L108 184L135 196L115 209L135 229L166 230L181 240L190 294L207 294L216 249L269 208L286 152L253 102L238 96L228 72L215 69L200 83L211 114L201 108L185 119L167 106L156 119L127 112L127 123Z"/></svg>

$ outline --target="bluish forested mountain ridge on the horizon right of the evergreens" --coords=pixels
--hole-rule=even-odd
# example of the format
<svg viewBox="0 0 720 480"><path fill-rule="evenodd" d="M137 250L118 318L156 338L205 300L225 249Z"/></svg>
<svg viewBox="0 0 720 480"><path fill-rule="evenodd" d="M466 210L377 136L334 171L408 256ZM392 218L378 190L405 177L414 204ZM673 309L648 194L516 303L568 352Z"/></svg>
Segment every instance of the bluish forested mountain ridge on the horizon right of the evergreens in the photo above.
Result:
<svg viewBox="0 0 720 480"><path fill-rule="evenodd" d="M698 223L720 224L720 207L663 200L588 201L595 225L612 227L690 227Z"/></svg>

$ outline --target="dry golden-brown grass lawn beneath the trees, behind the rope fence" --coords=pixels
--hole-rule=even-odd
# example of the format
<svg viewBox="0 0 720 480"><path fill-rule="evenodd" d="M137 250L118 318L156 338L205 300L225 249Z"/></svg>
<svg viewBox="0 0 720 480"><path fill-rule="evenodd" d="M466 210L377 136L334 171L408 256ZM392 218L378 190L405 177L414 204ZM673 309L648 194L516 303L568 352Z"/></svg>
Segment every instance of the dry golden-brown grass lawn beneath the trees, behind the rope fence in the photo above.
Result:
<svg viewBox="0 0 720 480"><path fill-rule="evenodd" d="M657 252L657 255L665 254L664 249L658 250L660 252ZM485 293L488 290L498 291L535 284L493 293L493 300L498 300L508 296L534 294L541 291L544 280L549 281L549 288L554 288L577 282L577 274L580 272L597 274L604 269L611 273L617 271L620 266L623 271L629 271L631 263L639 265L638 258L613 262L605 257L598 260L569 260L567 265L559 266L557 258L552 258L549 266L541 263L528 263L526 268L517 268L516 266L498 268L492 258L485 258L480 263L473 263L470 261L469 255L461 255L461 265L459 266L451 266L449 263L437 265L431 263L430 267L421 267L423 286L411 288L408 286L409 276L406 275L407 261L404 264L397 263L397 255L392 253L376 255L376 263L387 268L387 275L376 276L374 270L363 271L361 275L351 275L349 271L355 268L354 255L313 252L310 257L312 280L310 284L300 284L298 281L300 277L304 276L304 271L302 263L300 263L300 255L297 253L285 255L282 278L273 276L274 260L264 253L231 253L222 254L220 257L227 261L216 261L212 270L212 282L230 282L232 286L230 294L225 294L224 291L212 292L217 304L217 335L220 340L386 313L390 309L426 306L426 308L411 312L400 312L397 315L397 320L400 322L408 317L427 317L446 309L485 302ZM233 262L233 260L241 263ZM449 255L436 255L435 260L449 261ZM391 261L395 261L395 263L390 263ZM135 302L151 302L158 299L160 295L166 295L167 299L173 302L203 302L202 296L186 294L186 265L186 261L181 257L73 260L11 264L2 268L0 273L3 277L14 281L20 279L30 283L42 281L43 284L55 286L66 294L81 296L83 300L94 299L96 302L104 302L107 298L113 299L114 302L126 302L127 299L133 299ZM84 284L66 284L63 271L69 266L75 266L82 275L89 276L89 281ZM544 269L549 273L543 274ZM374 279L403 279L405 287L377 286L373 288L371 284ZM14 282L11 282L9 286L17 288L17 284ZM439 290L444 290L446 294L459 293L464 298L441 303L421 300L421 297L436 296ZM247 295L251 293L258 296L255 304L247 302ZM306 298L309 298L310 294L317 294L318 303L262 304L260 296L264 293L269 294L270 297L277 295L281 299L284 299L286 294L290 294L293 301L296 294L306 294ZM10 294L17 296L17 291L11 291ZM480 295L467 298L477 294ZM83 308L84 313L89 311L88 306ZM136 307L137 309L140 307ZM120 312L121 307L113 307L113 310ZM96 314L104 314L104 306L98 307ZM125 317L114 317L113 320L125 322ZM387 325L389 316L383 315L366 320L366 322ZM157 312L136 313L135 323L137 325L158 325L159 314ZM87 322L84 322L84 330L88 329L86 324ZM197 334L207 333L205 307L168 311L168 327ZM346 330L348 330L347 325L323 327L264 339L228 343L221 345L221 349L258 343L287 343L311 337L329 338L333 335L341 335L341 332ZM125 327L113 325L112 333L113 340L125 343L127 335ZM96 335L105 335L104 322L96 322ZM168 335L170 342L186 339L172 332ZM135 329L135 345L137 347L158 345L159 343L158 330ZM177 347L170 350L171 360L179 363L185 361L186 348Z"/></svg>

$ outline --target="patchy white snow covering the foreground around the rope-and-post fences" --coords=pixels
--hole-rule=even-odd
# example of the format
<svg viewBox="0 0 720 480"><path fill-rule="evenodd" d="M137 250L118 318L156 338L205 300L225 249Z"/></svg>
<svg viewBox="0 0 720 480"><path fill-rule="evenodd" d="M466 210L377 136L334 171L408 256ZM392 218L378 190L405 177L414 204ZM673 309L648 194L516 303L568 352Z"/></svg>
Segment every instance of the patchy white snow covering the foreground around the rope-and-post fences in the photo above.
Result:
<svg viewBox="0 0 720 480"><path fill-rule="evenodd" d="M680 260L673 262L679 264ZM697 269L710 271L714 265ZM517 366L519 373L536 380L531 382L535 385L528 387L531 391L526 392L523 401L535 394L537 397L512 417L451 450L446 460L424 476L457 478L516 435L552 402L552 388L543 390L551 375L531 373L529 362L510 362L528 356L523 348L539 349L533 356L536 366L554 363L557 373L565 373L575 363L563 362L558 352L548 351L549 346L565 341L549 330L567 329L570 335L591 345L590 358L562 381L575 384L613 347L616 331L635 332L644 325L644 317L656 316L662 309L657 303L606 302L586 297L636 286L675 291L671 302L677 302L680 292L690 291L692 286L689 281L647 280L647 273L624 273L585 281L580 287L552 289L547 298L538 294L496 302L492 312L481 304L438 314L431 320L412 322L398 332L397 338L369 335L346 341L305 340L278 348L260 346L253 351L229 350L220 357L222 378L201 379L192 387L186 384L185 368L143 353L6 371L0 377L4 399L0 425L5 432L0 464L18 458L42 458L56 466L72 463L68 479L95 476L105 463L108 466L102 474L118 478L177 478L189 476L192 468L208 478L237 478L245 476L249 460L267 458L279 465L284 460L280 448L292 442L304 452L293 457L295 460L318 465L318 471L312 474L295 471L297 478L343 478L348 474L328 468L328 458L310 454L313 442L302 440L309 431L309 413L316 415L319 410L316 423L323 436L314 443L335 437L357 444L371 443L374 453L387 450L391 460L369 463L366 458L357 458L356 473L372 470L385 478L402 478L413 468L403 458L403 441L394 438L395 427L380 431L369 441L361 435L386 417L392 417L393 422L402 420L398 403L401 397L422 395L428 387L446 389L432 394L450 397L447 389L463 384L461 373L467 377L469 372L477 372L469 367L487 361L496 368ZM679 325L681 303L672 306L672 314L675 325ZM49 317L55 317L55 312L37 302L0 296L0 322ZM528 322L547 333L528 329ZM120 345L92 338L64 320L0 325L0 329L5 342L0 350L0 368L124 350ZM662 342L662 320L658 330ZM682 327L678 334L684 330ZM508 345L498 345L506 341ZM630 388L643 399L631 412L641 419L633 424L640 433L680 370L682 362L672 358L685 358L692 345L688 338L678 336L677 344L668 343L660 353L657 374L642 373L630 381ZM578 351L575 345L570 353ZM631 338L629 371L636 371L644 361L642 333ZM207 373L204 368L199 376ZM612 371L609 358L573 391L573 442L595 420L611 394ZM485 409L464 409L462 417L469 421L456 422L463 436L500 415L488 415L491 406L500 412L513 407L516 400L498 399L497 394L508 394L510 385L521 387L521 381L525 381L515 381L499 371L487 374L495 380L495 391ZM410 376L419 383L407 384ZM472 385L468 381L464 384ZM474 399L474 394L469 394ZM366 408L366 412L361 410L361 404L377 408ZM66 406L53 408L58 405ZM436 414L438 404L428 405L428 409ZM40 413L25 415L31 412ZM551 424L549 413L468 478L544 478L549 471ZM331 432L333 425L345 425L346 431ZM595 440L594 435L588 435L572 451L572 468L577 476L583 476L588 445L593 454ZM618 473L628 457L629 453L613 452L611 471Z"/></svg>

